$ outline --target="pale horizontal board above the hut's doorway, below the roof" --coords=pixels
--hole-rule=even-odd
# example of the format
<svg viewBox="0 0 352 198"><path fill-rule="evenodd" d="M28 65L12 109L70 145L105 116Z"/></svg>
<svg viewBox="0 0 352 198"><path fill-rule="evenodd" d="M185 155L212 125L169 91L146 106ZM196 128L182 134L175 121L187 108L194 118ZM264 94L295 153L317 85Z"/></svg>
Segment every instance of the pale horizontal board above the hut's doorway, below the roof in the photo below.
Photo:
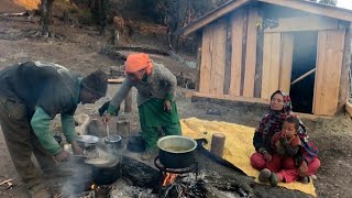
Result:
<svg viewBox="0 0 352 198"><path fill-rule="evenodd" d="M278 18L278 25L264 32L338 30L339 20L326 16Z"/></svg>

